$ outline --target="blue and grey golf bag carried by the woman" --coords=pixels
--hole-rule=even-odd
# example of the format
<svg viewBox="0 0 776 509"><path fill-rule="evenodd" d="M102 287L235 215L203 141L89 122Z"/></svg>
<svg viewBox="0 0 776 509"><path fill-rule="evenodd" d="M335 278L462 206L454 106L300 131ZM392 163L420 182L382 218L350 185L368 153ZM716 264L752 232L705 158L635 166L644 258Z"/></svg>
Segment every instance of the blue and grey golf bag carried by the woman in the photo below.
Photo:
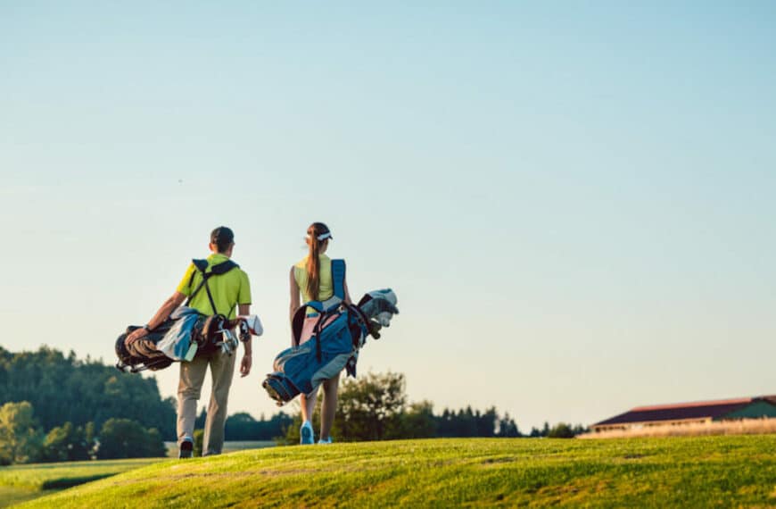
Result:
<svg viewBox="0 0 776 509"><path fill-rule="evenodd" d="M261 384L278 406L291 401L299 394L311 395L323 380L334 377L346 369L356 375L356 363L367 335L380 338L379 330L387 326L377 316L380 313L399 313L391 290L372 292L361 299L359 305L343 302L345 263L332 260L334 296L324 302L313 301L301 306L292 321L293 343L277 355L273 368ZM386 298L390 292L393 303ZM383 304L378 305L381 301ZM371 304L369 304L371 303ZM367 308L365 313L362 309ZM308 307L318 312L318 320L309 340L300 345L301 331ZM388 319L390 320L390 318Z"/></svg>

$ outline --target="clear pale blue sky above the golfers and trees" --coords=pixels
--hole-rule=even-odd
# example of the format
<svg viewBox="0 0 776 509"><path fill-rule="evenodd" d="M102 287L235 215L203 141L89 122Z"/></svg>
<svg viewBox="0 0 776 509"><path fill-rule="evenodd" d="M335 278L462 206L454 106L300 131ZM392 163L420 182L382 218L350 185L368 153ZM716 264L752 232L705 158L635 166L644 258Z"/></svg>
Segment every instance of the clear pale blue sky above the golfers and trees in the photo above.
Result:
<svg viewBox="0 0 776 509"><path fill-rule="evenodd" d="M776 392L776 4L0 2L0 345L113 362L209 231L267 333L325 221L360 369L522 430ZM175 368L158 375L172 395ZM205 393L207 394L207 392Z"/></svg>

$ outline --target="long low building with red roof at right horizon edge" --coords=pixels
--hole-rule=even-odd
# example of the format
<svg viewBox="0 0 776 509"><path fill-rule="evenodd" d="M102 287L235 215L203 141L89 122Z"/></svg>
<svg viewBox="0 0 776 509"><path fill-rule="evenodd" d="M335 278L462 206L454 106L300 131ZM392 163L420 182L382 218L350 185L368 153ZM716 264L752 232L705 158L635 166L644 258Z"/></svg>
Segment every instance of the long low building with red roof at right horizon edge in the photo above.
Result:
<svg viewBox="0 0 776 509"><path fill-rule="evenodd" d="M674 405L637 406L628 412L600 421L590 429L628 430L736 419L776 418L776 396L739 397Z"/></svg>

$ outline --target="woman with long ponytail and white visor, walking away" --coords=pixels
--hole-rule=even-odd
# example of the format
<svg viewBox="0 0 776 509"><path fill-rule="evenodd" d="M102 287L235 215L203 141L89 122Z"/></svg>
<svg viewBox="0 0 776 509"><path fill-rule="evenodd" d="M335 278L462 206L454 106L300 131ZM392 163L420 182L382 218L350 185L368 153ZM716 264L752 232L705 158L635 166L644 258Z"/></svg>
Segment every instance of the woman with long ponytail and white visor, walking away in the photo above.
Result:
<svg viewBox="0 0 776 509"><path fill-rule="evenodd" d="M334 296L334 281L332 279L332 261L326 256L326 248L329 240L332 240L331 231L322 222L314 222L307 229L305 241L310 248L307 256L291 268L289 282L291 286L291 319L300 308L302 302L313 300L325 301ZM351 304L351 296L348 293L347 282L344 282L345 302ZM302 301L300 301L300 294ZM308 308L304 325L301 330L300 345L310 339L312 330L318 321L318 312ZM334 413L337 409L337 390L340 383L340 374L324 380L323 402L321 405L321 425L318 444L331 444L331 430L334 423ZM317 394L310 397L301 395L301 428L299 430L301 444L315 443L312 430L312 414L315 412Z"/></svg>

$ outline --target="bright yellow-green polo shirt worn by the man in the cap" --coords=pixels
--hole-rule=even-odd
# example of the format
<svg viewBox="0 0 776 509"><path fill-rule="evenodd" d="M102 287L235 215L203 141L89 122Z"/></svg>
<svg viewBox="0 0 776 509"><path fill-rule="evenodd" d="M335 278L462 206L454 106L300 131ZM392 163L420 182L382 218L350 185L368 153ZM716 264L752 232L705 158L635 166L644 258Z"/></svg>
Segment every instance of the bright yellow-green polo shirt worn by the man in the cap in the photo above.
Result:
<svg viewBox="0 0 776 509"><path fill-rule="evenodd" d="M208 256L208 268L205 271L210 272L213 265L224 263L228 259L227 255L219 253ZM192 273L194 273L194 279L192 279ZM189 281L191 281L191 286L189 286ZM191 263L188 269L186 269L183 280L177 285L177 291L185 296L190 296L200 286L200 283L202 283L202 274L196 270L194 263ZM211 295L213 296L213 302L216 303L218 313L226 315L227 318L233 316L235 305L251 304L251 283L248 281L248 274L239 267L228 271L226 274L211 276L208 280L208 287L211 288ZM210 315L216 313L213 311L207 289L205 288L197 292L189 306L202 314Z"/></svg>

